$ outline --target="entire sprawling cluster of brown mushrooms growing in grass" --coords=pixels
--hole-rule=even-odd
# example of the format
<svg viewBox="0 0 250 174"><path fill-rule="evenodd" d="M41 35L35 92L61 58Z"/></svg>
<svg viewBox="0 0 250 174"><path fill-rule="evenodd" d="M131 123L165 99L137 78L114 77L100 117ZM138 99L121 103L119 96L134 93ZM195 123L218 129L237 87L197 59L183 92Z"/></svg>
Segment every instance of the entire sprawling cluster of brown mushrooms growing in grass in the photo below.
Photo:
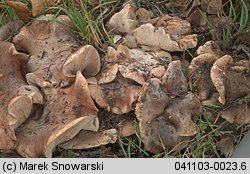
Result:
<svg viewBox="0 0 250 174"><path fill-rule="evenodd" d="M212 41L184 73L172 52L196 47L197 36L181 18L128 4L107 24L119 41L103 56L81 44L67 16L51 18L23 26L13 43L0 29L0 150L51 157L56 146L115 143L139 122L146 149L157 153L199 131L192 117L202 105L226 106L250 93L250 62L233 61ZM221 116L245 124L248 105L226 107Z"/></svg>

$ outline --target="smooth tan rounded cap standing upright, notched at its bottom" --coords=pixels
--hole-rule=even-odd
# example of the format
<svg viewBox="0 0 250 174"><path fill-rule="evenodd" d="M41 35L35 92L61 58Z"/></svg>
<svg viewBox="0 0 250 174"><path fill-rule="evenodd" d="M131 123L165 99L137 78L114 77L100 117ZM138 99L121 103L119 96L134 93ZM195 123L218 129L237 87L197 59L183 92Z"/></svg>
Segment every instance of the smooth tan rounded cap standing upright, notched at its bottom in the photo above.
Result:
<svg viewBox="0 0 250 174"><path fill-rule="evenodd" d="M100 56L91 45L85 45L72 54L63 65L63 74L75 77L81 70L85 77L95 76L100 71Z"/></svg>

